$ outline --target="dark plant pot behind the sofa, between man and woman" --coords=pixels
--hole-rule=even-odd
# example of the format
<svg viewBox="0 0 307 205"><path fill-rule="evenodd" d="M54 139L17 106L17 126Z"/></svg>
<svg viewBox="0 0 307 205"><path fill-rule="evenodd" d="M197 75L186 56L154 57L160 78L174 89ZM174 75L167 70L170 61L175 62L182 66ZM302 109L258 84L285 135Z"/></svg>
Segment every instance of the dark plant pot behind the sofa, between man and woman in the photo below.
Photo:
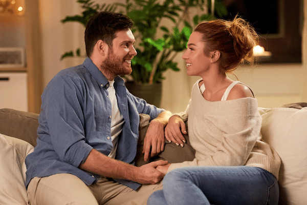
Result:
<svg viewBox="0 0 307 205"><path fill-rule="evenodd" d="M134 84L127 82L126 88L136 97L143 98L147 103L160 108L162 96L162 83L155 84Z"/></svg>

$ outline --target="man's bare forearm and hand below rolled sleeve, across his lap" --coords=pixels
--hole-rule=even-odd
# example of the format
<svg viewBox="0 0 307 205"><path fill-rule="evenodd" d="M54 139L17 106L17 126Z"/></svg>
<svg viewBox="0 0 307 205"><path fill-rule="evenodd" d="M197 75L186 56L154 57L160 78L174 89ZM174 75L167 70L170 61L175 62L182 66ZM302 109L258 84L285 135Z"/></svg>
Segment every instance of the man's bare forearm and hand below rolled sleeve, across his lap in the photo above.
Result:
<svg viewBox="0 0 307 205"><path fill-rule="evenodd" d="M135 167L128 163L112 159L92 149L84 163L79 165L79 168L105 177L127 179L141 184L155 184L164 177L164 174L156 168L166 164L167 161L159 160L143 165L142 167Z"/></svg>

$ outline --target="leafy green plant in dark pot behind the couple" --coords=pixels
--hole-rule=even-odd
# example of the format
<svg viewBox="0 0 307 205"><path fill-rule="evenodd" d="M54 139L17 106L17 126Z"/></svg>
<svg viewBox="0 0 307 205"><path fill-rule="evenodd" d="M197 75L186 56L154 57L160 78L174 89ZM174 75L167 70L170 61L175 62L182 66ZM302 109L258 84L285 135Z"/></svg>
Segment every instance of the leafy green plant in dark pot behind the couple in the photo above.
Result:
<svg viewBox="0 0 307 205"><path fill-rule="evenodd" d="M211 2L215 3L211 5ZM199 8L202 11L193 16L194 25L214 18L213 13L218 16L227 14L222 0L126 0L125 4L102 5L91 0L78 0L77 3L84 9L82 15L67 16L62 23L80 22L85 26L87 21L100 11L121 12L133 20L134 27L131 30L136 37L135 47L138 55L131 60L133 71L126 76L126 87L132 94L158 107L163 72L168 69L180 70L174 57L186 49L192 31L190 20L186 18L189 9ZM215 12L208 12L209 8ZM70 51L63 54L62 58L80 55L80 49L77 49L75 53Z"/></svg>

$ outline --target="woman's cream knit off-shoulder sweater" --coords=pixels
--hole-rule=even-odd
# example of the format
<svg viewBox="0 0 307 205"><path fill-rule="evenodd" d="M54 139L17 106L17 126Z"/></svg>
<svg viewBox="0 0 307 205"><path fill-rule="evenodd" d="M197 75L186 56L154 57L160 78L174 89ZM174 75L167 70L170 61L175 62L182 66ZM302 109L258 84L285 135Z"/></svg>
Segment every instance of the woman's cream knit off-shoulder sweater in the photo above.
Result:
<svg viewBox="0 0 307 205"><path fill-rule="evenodd" d="M280 158L261 140L261 116L257 99L247 97L207 101L199 81L192 88L188 132L195 159L172 163L168 169L191 166L251 166L265 169L278 178Z"/></svg>

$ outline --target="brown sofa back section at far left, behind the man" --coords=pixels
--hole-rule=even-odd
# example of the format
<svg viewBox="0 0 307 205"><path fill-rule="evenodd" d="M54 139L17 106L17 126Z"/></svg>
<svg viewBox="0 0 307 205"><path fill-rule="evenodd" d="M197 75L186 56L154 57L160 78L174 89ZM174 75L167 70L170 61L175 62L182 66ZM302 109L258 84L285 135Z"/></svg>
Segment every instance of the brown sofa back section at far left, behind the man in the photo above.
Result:
<svg viewBox="0 0 307 205"><path fill-rule="evenodd" d="M39 114L14 109L0 109L0 133L36 146Z"/></svg>

